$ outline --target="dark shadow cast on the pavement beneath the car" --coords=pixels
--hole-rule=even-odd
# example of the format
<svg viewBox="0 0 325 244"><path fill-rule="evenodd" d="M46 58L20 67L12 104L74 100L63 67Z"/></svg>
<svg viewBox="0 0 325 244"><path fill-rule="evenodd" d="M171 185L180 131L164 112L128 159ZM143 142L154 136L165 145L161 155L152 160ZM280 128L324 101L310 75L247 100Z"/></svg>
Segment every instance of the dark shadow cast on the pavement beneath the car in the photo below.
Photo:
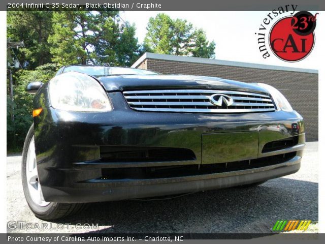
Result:
<svg viewBox="0 0 325 244"><path fill-rule="evenodd" d="M279 219L318 221L318 184L277 178L170 200L92 203L63 221L98 223L88 233L271 233Z"/></svg>

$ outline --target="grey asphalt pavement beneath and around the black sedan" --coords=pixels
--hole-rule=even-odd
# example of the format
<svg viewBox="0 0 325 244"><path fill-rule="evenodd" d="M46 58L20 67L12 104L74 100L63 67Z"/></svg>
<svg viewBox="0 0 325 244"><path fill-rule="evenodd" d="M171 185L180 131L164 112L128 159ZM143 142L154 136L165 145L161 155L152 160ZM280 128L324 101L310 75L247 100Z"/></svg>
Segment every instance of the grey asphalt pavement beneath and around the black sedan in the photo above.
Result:
<svg viewBox="0 0 325 244"><path fill-rule="evenodd" d="M255 188L93 203L82 214L52 223L29 210L20 163L21 156L7 157L7 221L22 221L17 228L7 226L8 233L270 233L279 219L318 221L318 142L307 143L299 172ZM42 223L48 228L39 230ZM98 229L88 228L91 223Z"/></svg>

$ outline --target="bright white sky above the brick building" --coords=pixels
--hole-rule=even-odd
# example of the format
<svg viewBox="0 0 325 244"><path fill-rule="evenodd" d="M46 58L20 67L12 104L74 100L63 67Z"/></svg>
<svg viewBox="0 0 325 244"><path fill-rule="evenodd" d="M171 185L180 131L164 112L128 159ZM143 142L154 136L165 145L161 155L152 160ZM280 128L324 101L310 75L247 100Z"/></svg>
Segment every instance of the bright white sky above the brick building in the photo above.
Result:
<svg viewBox="0 0 325 244"><path fill-rule="evenodd" d="M297 9L298 10L298 9ZM150 17L154 17L159 12L120 12L124 21L135 23L137 27L136 36L140 43L146 35L146 26ZM164 12L171 18L186 19L194 27L203 28L209 40L216 43L215 58L221 60L231 60L237 62L256 63L264 65L277 65L286 67L296 67L305 69L319 69L319 62L316 62L318 47L317 32L320 27L316 25L315 46L308 57L300 62L288 63L277 58L273 53L268 58L263 58L258 49L255 33L258 32L259 25L267 17L269 12ZM315 12L311 12L315 14ZM284 16L284 15L283 15ZM321 18L322 14L317 16ZM269 26L270 28L271 26ZM270 50L270 49L269 49Z"/></svg>

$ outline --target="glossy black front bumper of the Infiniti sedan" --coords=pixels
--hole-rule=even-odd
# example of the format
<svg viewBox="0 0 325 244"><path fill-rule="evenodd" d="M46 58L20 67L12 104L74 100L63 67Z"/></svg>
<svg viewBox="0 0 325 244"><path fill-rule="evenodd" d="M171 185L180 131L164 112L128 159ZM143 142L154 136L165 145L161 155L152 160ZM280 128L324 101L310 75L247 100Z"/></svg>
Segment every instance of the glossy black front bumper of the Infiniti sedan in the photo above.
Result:
<svg viewBox="0 0 325 244"><path fill-rule="evenodd" d="M138 112L128 107L121 93L109 97L111 112L46 107L35 117L37 165L46 201L97 202L211 190L276 178L300 168L305 129L297 112ZM245 141L246 135L251 139ZM293 137L297 139L293 145L265 150L270 142ZM112 150L125 156L139 148L158 152L176 148L192 154L183 158L172 150L167 157L162 150L164 160L103 159Z"/></svg>

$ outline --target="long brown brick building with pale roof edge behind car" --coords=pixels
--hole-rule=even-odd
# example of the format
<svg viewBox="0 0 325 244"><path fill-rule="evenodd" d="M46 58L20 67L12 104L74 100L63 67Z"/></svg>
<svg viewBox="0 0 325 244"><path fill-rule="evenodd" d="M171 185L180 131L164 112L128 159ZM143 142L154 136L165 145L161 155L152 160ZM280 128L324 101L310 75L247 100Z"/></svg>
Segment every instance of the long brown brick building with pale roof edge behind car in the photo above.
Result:
<svg viewBox="0 0 325 244"><path fill-rule="evenodd" d="M305 119L306 140L318 140L318 71L217 59L145 53L132 66L163 74L215 76L267 83L287 98Z"/></svg>

